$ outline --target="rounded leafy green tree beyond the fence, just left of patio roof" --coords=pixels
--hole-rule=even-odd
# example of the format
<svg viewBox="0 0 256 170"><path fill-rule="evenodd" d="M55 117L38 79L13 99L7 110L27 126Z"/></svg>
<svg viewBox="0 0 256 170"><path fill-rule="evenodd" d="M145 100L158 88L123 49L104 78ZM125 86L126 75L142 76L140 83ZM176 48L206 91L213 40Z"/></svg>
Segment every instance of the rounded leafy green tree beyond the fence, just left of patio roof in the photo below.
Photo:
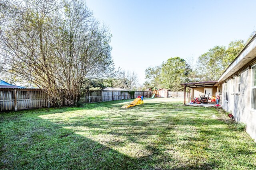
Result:
<svg viewBox="0 0 256 170"><path fill-rule="evenodd" d="M162 64L161 80L163 87L173 91L182 90L180 84L189 81L190 71L190 66L186 63L186 60L180 57L168 59Z"/></svg>

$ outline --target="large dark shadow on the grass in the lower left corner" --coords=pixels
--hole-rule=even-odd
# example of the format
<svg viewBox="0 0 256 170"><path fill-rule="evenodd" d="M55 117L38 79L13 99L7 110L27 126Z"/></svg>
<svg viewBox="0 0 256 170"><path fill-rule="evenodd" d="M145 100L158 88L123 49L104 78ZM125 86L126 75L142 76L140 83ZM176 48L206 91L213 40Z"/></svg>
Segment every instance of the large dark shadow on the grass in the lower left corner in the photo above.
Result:
<svg viewBox="0 0 256 170"><path fill-rule="evenodd" d="M138 159L60 125L38 117L24 121L1 125L2 169L140 169Z"/></svg>

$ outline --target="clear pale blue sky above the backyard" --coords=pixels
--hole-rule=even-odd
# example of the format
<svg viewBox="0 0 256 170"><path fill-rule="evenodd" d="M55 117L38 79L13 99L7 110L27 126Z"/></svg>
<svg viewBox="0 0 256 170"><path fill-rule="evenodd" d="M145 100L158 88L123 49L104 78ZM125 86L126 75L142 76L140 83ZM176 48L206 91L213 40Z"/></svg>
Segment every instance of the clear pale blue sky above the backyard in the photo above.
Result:
<svg viewBox="0 0 256 170"><path fill-rule="evenodd" d="M145 70L170 57L193 58L256 30L256 0L86 0L110 28L115 66Z"/></svg>

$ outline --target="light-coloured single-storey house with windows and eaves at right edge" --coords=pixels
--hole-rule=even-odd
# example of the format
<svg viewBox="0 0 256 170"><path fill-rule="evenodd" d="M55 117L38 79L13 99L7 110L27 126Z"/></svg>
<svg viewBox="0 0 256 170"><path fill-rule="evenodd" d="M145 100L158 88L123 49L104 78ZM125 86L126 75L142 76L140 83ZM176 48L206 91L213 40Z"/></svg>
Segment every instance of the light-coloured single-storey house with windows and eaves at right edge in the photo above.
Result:
<svg viewBox="0 0 256 170"><path fill-rule="evenodd" d="M185 89L196 89L196 84L188 84L191 83L182 85ZM222 108L234 115L236 121L246 123L247 133L256 140L256 35L228 66L214 87L220 93ZM196 97L195 94L193 97Z"/></svg>

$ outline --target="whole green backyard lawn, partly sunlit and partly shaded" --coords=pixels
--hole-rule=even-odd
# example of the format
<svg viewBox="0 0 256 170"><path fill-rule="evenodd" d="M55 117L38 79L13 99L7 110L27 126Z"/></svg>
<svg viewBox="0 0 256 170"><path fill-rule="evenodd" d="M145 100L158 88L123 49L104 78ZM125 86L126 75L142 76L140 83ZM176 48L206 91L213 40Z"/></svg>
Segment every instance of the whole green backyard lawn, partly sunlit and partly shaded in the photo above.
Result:
<svg viewBox="0 0 256 170"><path fill-rule="evenodd" d="M221 111L128 102L0 113L0 168L256 169L256 143Z"/></svg>

